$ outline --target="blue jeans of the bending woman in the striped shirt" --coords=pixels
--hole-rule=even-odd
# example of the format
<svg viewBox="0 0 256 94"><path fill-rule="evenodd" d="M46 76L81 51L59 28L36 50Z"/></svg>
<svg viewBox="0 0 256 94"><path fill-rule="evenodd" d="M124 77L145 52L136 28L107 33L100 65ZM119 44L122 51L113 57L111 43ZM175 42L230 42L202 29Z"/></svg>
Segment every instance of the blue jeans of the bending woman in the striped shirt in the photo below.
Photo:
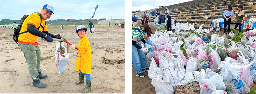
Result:
<svg viewBox="0 0 256 94"><path fill-rule="evenodd" d="M139 44L141 46L141 44ZM140 49L132 45L132 63L137 74L142 73L142 69L147 68L145 54Z"/></svg>

